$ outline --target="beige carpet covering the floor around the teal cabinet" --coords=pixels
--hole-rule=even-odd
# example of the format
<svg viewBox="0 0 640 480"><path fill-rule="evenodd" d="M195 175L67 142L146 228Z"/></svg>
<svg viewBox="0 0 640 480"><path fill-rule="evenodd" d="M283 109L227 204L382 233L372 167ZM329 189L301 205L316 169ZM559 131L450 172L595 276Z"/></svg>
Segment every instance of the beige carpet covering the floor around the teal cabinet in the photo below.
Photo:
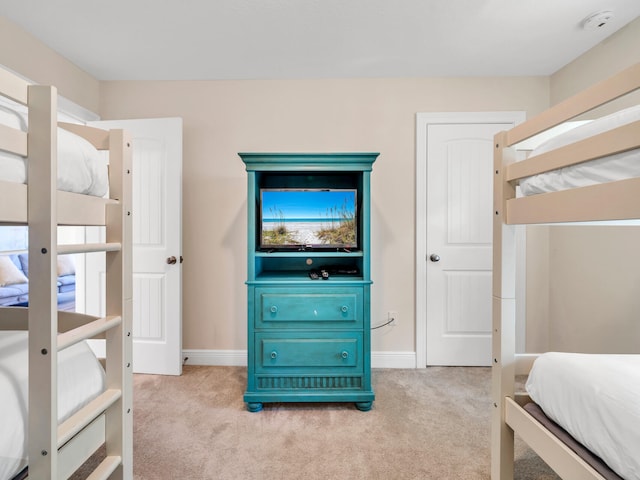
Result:
<svg viewBox="0 0 640 480"><path fill-rule="evenodd" d="M489 479L490 375L488 368L374 370L370 412L297 403L266 404L259 413L242 401L244 368L135 375L134 476ZM520 442L516 450L516 479L558 478Z"/></svg>

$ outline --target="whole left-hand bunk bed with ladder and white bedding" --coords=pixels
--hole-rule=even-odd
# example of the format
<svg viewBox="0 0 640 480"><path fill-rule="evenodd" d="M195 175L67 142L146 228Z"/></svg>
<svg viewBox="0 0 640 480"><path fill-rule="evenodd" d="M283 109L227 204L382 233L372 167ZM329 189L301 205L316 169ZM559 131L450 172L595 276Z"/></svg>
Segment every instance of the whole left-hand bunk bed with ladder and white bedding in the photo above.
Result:
<svg viewBox="0 0 640 480"><path fill-rule="evenodd" d="M89 462L95 463L89 478L130 479L131 140L122 130L59 124L55 87L32 85L1 69L0 94L27 114L24 121L0 122L5 160L26 160L26 175L20 174L26 178L0 176L0 224L26 225L29 232L28 307L0 308L0 435L9 436L0 438L0 446L9 442L9 450L0 451L0 478L68 478L104 445L105 453ZM5 120L7 115L4 108ZM106 198L104 187L58 189L65 186L58 178L60 157L73 154L65 148L75 148L65 140L70 135L71 143L82 144L80 156L108 151ZM79 167L65 168L74 174ZM58 245L58 225L104 226L106 242ZM98 251L106 252L106 316L58 312L57 256ZM105 339L104 359L93 355L90 338ZM74 389L79 398L69 398L71 385L81 386ZM9 406L15 407L12 413Z"/></svg>

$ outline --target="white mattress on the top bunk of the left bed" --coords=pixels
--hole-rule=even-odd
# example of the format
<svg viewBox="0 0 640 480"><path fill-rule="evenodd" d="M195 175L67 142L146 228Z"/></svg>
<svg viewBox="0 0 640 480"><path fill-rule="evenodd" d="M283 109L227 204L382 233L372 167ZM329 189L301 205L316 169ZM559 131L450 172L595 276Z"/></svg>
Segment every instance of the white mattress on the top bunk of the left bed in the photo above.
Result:
<svg viewBox="0 0 640 480"><path fill-rule="evenodd" d="M0 123L27 131L24 112L0 103ZM27 160L0 150L0 180L27 182ZM58 128L58 190L102 197L107 193L105 158L84 138Z"/></svg>

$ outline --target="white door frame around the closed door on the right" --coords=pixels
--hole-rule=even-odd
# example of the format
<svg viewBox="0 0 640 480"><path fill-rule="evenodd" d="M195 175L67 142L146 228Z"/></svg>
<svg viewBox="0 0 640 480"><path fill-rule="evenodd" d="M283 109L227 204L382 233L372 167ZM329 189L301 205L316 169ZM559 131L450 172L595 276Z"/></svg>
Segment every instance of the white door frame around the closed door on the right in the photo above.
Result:
<svg viewBox="0 0 640 480"><path fill-rule="evenodd" d="M513 123L526 119L524 111L428 112L416 114L416 368L427 367L427 129L429 125ZM516 229L516 338L517 351L524 351L526 230Z"/></svg>

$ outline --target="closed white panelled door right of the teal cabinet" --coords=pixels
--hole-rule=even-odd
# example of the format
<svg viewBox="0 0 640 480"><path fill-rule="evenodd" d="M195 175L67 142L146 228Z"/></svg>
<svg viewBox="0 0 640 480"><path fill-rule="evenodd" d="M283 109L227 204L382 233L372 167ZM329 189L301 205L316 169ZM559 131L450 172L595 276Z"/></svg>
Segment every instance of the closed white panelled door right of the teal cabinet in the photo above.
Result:
<svg viewBox="0 0 640 480"><path fill-rule="evenodd" d="M427 127L427 365L490 365L493 136Z"/></svg>

